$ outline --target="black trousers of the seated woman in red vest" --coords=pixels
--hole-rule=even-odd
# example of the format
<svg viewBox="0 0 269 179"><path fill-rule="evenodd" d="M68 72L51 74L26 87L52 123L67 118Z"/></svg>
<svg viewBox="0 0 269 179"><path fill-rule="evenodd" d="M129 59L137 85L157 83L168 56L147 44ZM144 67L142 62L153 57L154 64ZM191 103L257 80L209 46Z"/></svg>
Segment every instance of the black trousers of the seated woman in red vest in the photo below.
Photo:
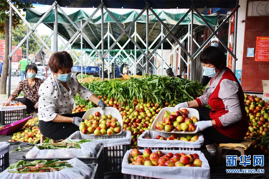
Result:
<svg viewBox="0 0 269 179"><path fill-rule="evenodd" d="M211 121L209 116L210 110L208 107L198 107L195 108L199 112L200 121ZM201 131L204 135L204 145L209 145L213 143L240 143L242 140L229 138L226 135L218 132L215 127L211 126L204 131Z"/></svg>

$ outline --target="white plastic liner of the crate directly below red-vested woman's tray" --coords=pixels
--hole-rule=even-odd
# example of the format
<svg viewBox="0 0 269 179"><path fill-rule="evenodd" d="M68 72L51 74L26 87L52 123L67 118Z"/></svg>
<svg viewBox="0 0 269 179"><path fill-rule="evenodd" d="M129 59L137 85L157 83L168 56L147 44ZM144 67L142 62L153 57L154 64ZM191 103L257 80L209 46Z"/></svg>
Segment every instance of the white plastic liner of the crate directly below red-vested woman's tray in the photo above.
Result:
<svg viewBox="0 0 269 179"><path fill-rule="evenodd" d="M160 139L153 139L157 135L161 135L165 138L170 137L171 134L163 133L163 132L154 132L150 130L146 130L142 135L137 138L137 145L140 147L181 147L181 148L201 148L204 143L204 136L202 134L192 134L199 135L199 138L195 142L188 142L188 141L180 141L180 140L160 140ZM189 134L177 134L180 137L186 137ZM145 137L150 137L151 139L145 139Z"/></svg>

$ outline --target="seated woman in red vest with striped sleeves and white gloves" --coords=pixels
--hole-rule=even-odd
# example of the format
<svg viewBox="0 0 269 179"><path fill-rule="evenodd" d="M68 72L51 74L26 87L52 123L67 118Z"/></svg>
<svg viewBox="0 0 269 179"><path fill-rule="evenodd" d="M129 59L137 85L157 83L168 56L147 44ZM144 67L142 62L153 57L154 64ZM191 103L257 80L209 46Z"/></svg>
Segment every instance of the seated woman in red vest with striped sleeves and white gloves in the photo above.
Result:
<svg viewBox="0 0 269 179"><path fill-rule="evenodd" d="M234 73L226 67L226 58L218 47L207 47L200 55L205 74L212 77L204 95L196 100L176 105L176 108L196 108L196 122L204 135L204 145L240 143L248 129L244 93ZM205 105L209 104L210 110Z"/></svg>

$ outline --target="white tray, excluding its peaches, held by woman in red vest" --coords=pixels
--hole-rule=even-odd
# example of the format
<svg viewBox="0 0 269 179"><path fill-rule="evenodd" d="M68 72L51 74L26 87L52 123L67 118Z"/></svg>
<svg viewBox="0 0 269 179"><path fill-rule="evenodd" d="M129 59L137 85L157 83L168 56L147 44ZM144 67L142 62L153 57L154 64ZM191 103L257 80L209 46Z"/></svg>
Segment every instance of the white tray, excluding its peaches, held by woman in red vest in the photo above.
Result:
<svg viewBox="0 0 269 179"><path fill-rule="evenodd" d="M181 109L183 109L183 108L180 108L179 110L181 110ZM193 109L193 108L185 108L185 109L187 109L189 111L189 113L188 113L189 118L192 116L195 116L198 119L198 121L200 121L199 120L199 112L196 109ZM178 134L195 134L198 132L198 126L196 126L196 129L193 132L177 131L175 128L171 132L166 132L164 129L162 131L160 131L159 129L156 129L155 124L163 121L162 118L164 115L164 111L169 111L171 113L171 112L176 112L177 110L175 107L165 107L165 108L161 109L161 111L158 113L157 117L153 121L153 123L150 127L150 130L155 131L155 132L178 133Z"/></svg>

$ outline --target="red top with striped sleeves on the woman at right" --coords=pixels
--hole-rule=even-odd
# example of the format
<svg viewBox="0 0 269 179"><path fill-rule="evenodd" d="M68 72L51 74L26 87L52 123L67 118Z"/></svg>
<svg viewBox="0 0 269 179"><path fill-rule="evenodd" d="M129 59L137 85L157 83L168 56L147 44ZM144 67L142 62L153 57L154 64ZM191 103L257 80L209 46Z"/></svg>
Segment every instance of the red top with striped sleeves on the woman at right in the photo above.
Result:
<svg viewBox="0 0 269 179"><path fill-rule="evenodd" d="M196 99L199 107L207 104L212 107L210 118L215 120L218 132L233 139L243 139L248 128L244 105L244 93L235 75L224 68L213 77L204 95Z"/></svg>

